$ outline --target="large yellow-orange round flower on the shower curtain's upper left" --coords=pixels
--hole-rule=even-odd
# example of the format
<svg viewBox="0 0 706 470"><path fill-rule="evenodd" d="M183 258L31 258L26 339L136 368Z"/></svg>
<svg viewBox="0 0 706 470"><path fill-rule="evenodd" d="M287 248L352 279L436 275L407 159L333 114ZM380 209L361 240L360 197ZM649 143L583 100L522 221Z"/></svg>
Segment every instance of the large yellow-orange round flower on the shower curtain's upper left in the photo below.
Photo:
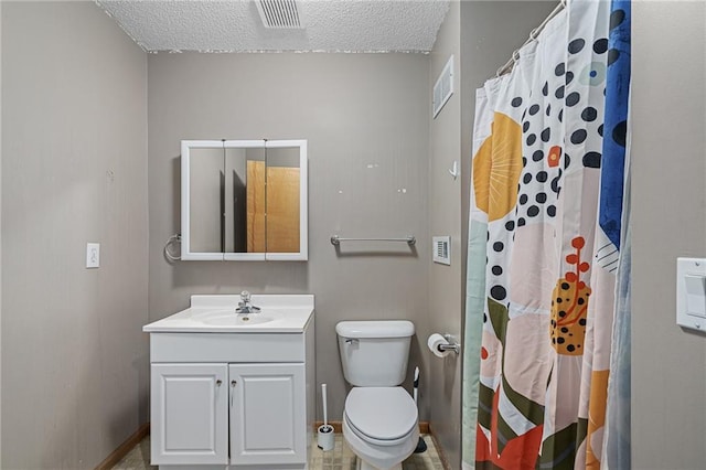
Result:
<svg viewBox="0 0 706 470"><path fill-rule="evenodd" d="M517 203L522 173L522 128L510 116L494 113L491 135L473 157L473 190L488 221L504 217Z"/></svg>

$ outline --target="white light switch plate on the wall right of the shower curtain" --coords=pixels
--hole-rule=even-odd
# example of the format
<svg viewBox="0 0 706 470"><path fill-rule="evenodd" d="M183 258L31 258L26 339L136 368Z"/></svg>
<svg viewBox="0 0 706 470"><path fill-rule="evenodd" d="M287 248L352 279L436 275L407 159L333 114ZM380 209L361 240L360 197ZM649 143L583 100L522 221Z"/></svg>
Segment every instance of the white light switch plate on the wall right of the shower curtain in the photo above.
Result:
<svg viewBox="0 0 706 470"><path fill-rule="evenodd" d="M706 332L706 258L676 260L676 323Z"/></svg>

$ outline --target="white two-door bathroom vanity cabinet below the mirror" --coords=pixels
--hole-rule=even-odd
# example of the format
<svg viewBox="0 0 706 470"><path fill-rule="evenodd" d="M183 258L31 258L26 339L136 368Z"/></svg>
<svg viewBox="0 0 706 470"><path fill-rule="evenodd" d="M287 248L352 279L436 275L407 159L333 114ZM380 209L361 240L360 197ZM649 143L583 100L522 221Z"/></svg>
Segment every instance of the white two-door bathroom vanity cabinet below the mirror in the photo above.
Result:
<svg viewBox="0 0 706 470"><path fill-rule="evenodd" d="M153 466L308 468L315 384L313 296L306 297L311 298L309 313L292 310L302 318L299 327L291 325L285 310L286 321L272 320L268 327L213 327L199 309L145 327L150 333ZM263 312L275 317L266 308ZM222 317L214 318L221 322Z"/></svg>

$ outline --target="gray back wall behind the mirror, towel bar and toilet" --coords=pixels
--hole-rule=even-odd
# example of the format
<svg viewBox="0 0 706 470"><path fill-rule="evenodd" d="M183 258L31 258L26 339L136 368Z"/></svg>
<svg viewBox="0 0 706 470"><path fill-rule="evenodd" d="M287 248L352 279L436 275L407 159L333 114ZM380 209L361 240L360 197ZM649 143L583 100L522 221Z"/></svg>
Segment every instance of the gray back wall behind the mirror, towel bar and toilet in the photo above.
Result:
<svg viewBox="0 0 706 470"><path fill-rule="evenodd" d="M160 53L148 64L150 319L189 307L192 293L315 295L317 381L329 385L329 416L341 419L335 323L420 324L429 314L428 56ZM309 140L307 263L167 263L163 244L180 231L180 140L221 138ZM334 234L418 242L414 252L344 244L336 255ZM425 342L414 342L410 370Z"/></svg>

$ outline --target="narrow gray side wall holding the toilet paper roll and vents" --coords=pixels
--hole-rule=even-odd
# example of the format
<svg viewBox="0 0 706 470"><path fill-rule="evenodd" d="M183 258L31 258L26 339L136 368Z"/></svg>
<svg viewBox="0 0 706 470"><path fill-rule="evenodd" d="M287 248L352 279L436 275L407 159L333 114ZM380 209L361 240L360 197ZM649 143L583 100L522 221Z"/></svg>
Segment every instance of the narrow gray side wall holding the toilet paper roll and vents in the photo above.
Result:
<svg viewBox="0 0 706 470"><path fill-rule="evenodd" d="M429 236L451 236L451 265L429 267L429 331L461 339L461 180L449 174L453 160L461 164L461 15L460 2L451 2L430 55L429 93L453 55L454 93L430 121ZM434 310L431 310L434 308ZM426 338L425 337L425 338ZM460 468L461 357L429 357L431 384L430 426L451 468Z"/></svg>

